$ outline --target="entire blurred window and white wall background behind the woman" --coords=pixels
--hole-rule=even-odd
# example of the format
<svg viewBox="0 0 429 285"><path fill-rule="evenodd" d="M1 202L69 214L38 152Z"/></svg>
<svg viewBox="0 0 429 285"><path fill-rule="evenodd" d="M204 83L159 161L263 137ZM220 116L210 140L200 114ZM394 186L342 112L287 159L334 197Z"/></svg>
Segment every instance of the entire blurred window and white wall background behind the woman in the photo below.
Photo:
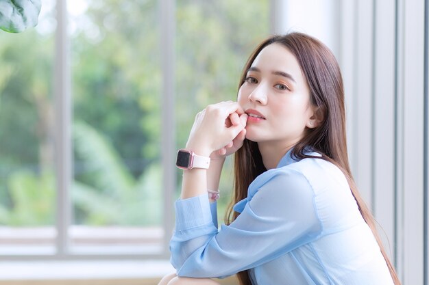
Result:
<svg viewBox="0 0 429 285"><path fill-rule="evenodd" d="M170 272L176 150L288 31L339 60L358 187L402 282L429 284L428 2L42 0L36 28L0 31L0 284ZM222 220L230 158L220 189Z"/></svg>

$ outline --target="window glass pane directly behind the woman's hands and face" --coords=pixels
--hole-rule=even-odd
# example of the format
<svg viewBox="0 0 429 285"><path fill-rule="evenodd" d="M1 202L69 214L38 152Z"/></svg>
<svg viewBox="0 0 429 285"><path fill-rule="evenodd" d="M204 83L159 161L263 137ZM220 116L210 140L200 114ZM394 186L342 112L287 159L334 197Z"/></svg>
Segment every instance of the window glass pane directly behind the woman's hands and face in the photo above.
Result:
<svg viewBox="0 0 429 285"><path fill-rule="evenodd" d="M269 1L178 0L176 17L176 137L177 148L182 148L196 113L212 103L236 100L247 57L269 35ZM232 178L228 158L219 187L222 221L231 199ZM177 195L179 191L177 185Z"/></svg>

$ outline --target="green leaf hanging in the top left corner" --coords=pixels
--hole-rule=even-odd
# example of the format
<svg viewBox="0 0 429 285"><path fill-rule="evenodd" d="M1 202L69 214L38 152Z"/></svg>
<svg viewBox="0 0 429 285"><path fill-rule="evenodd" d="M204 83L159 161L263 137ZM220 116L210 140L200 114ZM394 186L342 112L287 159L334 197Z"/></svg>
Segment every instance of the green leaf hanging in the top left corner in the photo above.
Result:
<svg viewBox="0 0 429 285"><path fill-rule="evenodd" d="M36 27L41 7L40 0L0 0L0 29L19 33Z"/></svg>

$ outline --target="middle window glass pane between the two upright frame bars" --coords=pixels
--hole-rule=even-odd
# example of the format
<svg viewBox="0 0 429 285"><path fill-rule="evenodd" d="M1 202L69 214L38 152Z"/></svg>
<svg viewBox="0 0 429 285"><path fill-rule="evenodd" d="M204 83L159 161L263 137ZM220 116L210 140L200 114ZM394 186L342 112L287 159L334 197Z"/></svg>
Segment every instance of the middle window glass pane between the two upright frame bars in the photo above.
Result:
<svg viewBox="0 0 429 285"><path fill-rule="evenodd" d="M158 1L69 1L73 253L162 251Z"/></svg>

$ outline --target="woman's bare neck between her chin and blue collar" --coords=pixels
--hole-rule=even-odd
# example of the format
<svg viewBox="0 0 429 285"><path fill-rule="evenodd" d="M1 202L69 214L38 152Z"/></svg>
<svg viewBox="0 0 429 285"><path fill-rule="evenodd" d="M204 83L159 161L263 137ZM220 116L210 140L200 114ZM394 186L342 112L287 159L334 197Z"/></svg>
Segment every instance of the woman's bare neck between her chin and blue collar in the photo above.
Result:
<svg viewBox="0 0 429 285"><path fill-rule="evenodd" d="M293 141L291 143L285 144L284 142L279 143L277 141L260 141L258 142L258 148L260 155L262 156L262 162L266 169L273 169L277 167L280 159L284 157L284 154L288 152L297 141Z"/></svg>

